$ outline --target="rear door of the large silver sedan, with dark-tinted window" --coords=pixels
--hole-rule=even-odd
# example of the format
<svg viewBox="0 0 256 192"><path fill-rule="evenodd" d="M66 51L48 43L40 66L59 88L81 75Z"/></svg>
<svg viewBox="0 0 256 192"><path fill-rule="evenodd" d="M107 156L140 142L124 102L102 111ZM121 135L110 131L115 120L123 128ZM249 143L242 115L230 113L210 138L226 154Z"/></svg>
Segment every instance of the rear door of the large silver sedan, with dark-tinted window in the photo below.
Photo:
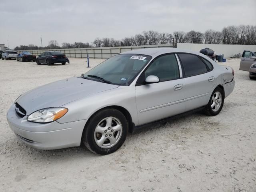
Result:
<svg viewBox="0 0 256 192"><path fill-rule="evenodd" d="M194 54L179 53L178 56L184 72L185 110L205 106L215 84L212 64Z"/></svg>

